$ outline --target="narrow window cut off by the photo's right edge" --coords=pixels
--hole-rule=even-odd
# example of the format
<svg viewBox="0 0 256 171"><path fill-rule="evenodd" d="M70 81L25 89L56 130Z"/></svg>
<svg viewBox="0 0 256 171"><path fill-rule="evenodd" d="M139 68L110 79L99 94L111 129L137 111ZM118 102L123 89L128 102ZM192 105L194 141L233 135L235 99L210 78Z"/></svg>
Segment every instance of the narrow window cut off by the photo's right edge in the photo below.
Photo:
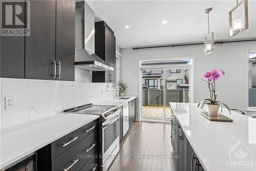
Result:
<svg viewBox="0 0 256 171"><path fill-rule="evenodd" d="M256 106L256 50L249 51L248 107Z"/></svg>

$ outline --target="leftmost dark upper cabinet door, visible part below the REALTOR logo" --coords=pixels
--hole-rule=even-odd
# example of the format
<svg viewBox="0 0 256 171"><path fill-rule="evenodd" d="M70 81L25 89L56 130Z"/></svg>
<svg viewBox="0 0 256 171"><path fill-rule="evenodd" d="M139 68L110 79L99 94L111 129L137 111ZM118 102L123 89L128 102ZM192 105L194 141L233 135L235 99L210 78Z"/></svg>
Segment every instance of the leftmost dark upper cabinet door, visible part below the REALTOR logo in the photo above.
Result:
<svg viewBox="0 0 256 171"><path fill-rule="evenodd" d="M24 79L25 36L1 36L0 44L1 78Z"/></svg>

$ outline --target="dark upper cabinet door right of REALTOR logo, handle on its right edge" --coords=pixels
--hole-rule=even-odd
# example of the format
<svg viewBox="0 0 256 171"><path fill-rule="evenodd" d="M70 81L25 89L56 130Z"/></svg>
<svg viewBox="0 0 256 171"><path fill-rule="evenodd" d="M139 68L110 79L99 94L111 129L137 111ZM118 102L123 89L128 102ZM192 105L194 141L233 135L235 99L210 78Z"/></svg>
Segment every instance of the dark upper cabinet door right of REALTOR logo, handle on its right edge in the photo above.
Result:
<svg viewBox="0 0 256 171"><path fill-rule="evenodd" d="M25 78L54 80L56 1L30 1L30 36L25 37Z"/></svg>

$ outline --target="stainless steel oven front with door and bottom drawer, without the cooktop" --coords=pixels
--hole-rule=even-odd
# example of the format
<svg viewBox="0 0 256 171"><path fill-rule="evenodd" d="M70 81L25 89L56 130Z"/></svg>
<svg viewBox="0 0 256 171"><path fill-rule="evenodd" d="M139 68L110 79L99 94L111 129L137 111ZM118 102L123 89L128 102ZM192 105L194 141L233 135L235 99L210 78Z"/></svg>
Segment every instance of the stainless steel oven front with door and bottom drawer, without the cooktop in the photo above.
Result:
<svg viewBox="0 0 256 171"><path fill-rule="evenodd" d="M119 111L113 119L100 124L100 165L101 170L109 168L119 151Z"/></svg>

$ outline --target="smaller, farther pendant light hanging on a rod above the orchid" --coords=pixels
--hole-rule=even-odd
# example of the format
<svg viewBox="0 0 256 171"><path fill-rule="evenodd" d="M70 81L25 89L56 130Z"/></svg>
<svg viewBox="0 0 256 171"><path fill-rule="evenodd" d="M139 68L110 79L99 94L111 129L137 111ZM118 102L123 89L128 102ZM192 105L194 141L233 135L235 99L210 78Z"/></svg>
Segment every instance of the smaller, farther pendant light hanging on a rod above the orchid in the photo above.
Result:
<svg viewBox="0 0 256 171"><path fill-rule="evenodd" d="M212 8L207 8L204 12L207 14L208 35L204 38L204 54L209 54L214 51L214 32L210 33L209 29L209 12Z"/></svg>

